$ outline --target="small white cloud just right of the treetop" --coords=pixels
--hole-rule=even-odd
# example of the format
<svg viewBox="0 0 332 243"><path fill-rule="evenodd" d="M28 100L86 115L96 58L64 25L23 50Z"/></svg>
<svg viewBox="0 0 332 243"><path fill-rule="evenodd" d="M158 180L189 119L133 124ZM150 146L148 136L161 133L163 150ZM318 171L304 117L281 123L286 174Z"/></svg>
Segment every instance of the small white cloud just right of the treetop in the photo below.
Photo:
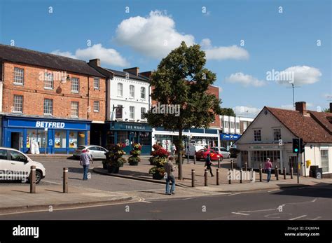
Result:
<svg viewBox="0 0 332 243"><path fill-rule="evenodd" d="M205 50L207 60L247 60L249 53L244 48L233 46L212 46L210 39L202 39L200 45Z"/></svg>

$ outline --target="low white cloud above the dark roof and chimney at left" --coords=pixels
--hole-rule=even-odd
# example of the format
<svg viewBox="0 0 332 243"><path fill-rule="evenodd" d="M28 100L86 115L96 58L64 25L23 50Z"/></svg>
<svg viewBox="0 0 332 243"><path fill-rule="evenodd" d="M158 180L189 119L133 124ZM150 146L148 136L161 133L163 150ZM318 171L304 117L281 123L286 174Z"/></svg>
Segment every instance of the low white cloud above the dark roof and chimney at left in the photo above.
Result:
<svg viewBox="0 0 332 243"><path fill-rule="evenodd" d="M76 50L75 55L72 55L70 52L61 52L60 50L55 50L52 52L52 54L85 61L99 58L102 64L118 67L128 67L130 65L125 57L122 57L117 50L113 48L104 48L100 43L85 49L78 49Z"/></svg>

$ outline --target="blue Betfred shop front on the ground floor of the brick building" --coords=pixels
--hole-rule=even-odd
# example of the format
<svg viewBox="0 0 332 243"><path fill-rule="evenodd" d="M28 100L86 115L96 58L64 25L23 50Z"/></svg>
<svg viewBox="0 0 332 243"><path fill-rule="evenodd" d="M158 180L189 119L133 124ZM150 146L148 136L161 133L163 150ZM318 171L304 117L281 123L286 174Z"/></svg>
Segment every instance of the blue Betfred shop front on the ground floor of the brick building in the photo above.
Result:
<svg viewBox="0 0 332 243"><path fill-rule="evenodd" d="M64 120L5 116L2 123L3 146L23 153L71 153L88 144L88 120Z"/></svg>

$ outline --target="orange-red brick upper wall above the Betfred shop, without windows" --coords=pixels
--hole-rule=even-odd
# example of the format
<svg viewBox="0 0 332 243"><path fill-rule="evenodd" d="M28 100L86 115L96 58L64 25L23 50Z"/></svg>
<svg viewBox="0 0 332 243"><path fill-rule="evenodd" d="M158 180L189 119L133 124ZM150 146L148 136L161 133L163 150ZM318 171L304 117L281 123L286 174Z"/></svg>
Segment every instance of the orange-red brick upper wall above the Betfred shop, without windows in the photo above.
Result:
<svg viewBox="0 0 332 243"><path fill-rule="evenodd" d="M14 84L14 67L24 69L24 85ZM47 69L47 71L61 70ZM71 118L71 102L79 102L79 118L105 120L106 81L104 78L99 79L100 89L94 90L93 77L67 73L71 78L79 78L79 92L73 93L71 92L71 81L60 84L61 79L57 77L54 78L53 90L46 90L44 81L41 80L44 72L46 69L42 67L5 62L3 111L12 113L14 95L22 95L23 114L25 115L43 116L44 99L53 99L54 117ZM90 88L90 95L88 88ZM93 101L99 101L99 113L93 111ZM91 106L90 113L88 113L89 105Z"/></svg>

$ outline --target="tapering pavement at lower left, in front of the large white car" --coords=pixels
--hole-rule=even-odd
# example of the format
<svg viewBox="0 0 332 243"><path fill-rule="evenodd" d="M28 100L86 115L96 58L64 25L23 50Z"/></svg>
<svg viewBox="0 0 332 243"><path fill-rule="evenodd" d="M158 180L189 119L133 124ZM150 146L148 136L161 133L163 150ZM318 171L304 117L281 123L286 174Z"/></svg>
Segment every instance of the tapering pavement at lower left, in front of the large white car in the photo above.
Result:
<svg viewBox="0 0 332 243"><path fill-rule="evenodd" d="M30 193L29 185L2 186L0 197L0 214L31 210L64 209L85 207L98 204L111 204L133 200L124 193L95 190L69 186L69 193L62 193L62 186L36 185L36 193Z"/></svg>

